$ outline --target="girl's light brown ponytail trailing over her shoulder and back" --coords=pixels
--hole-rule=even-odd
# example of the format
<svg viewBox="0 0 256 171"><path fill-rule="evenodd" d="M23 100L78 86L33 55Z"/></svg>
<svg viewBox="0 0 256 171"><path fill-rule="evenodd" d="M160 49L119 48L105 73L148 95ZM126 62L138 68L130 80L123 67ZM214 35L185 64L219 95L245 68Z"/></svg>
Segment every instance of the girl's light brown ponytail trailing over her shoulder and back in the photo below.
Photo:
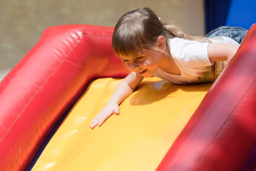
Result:
<svg viewBox="0 0 256 171"><path fill-rule="evenodd" d="M201 43L206 43L206 42L212 43L212 41L209 40L208 38L187 35L179 27L173 24L163 23L163 26L170 38L183 38L189 41L198 41ZM213 65L210 67L209 72L210 72L210 81L214 82L217 78L217 62L216 61L214 61Z"/></svg>

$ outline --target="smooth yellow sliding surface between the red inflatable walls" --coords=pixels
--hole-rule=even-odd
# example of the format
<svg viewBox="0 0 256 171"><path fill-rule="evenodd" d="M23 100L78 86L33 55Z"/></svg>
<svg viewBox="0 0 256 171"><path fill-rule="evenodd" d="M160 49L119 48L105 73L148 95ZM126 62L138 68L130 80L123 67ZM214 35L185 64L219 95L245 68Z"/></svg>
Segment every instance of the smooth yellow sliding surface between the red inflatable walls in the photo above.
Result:
<svg viewBox="0 0 256 171"><path fill-rule="evenodd" d="M91 130L121 80L90 84L32 171L154 171L212 85L145 78L118 116Z"/></svg>

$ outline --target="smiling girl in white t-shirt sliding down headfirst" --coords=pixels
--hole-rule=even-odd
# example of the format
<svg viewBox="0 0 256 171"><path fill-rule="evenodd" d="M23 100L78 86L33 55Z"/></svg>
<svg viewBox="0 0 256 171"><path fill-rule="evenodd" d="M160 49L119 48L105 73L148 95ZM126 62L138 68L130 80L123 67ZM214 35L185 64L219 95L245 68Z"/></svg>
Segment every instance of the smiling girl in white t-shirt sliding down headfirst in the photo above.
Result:
<svg viewBox="0 0 256 171"><path fill-rule="evenodd" d="M247 30L220 27L206 37L186 35L177 26L161 23L149 8L124 14L117 22L113 51L130 74L116 87L108 104L92 120L101 126L145 77L156 76L175 84L215 81L236 54Z"/></svg>

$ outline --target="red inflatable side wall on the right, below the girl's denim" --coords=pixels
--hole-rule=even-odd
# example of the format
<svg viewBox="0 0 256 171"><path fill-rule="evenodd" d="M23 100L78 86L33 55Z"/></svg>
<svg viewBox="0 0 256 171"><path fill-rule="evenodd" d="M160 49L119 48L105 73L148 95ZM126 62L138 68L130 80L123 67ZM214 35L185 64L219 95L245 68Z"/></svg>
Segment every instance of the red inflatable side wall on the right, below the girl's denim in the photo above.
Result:
<svg viewBox="0 0 256 171"><path fill-rule="evenodd" d="M256 148L256 25L157 171L240 171ZM255 168L254 159L250 168Z"/></svg>

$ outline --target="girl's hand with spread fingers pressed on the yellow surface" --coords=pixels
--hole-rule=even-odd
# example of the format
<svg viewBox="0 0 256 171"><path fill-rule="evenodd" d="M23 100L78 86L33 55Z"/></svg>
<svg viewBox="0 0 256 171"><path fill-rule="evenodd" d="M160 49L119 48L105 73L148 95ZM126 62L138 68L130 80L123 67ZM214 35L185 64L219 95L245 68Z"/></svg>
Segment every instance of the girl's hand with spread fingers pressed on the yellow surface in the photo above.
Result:
<svg viewBox="0 0 256 171"><path fill-rule="evenodd" d="M93 129L97 125L101 126L113 113L116 113L116 115L119 114L119 105L117 103L109 102L92 120L90 128Z"/></svg>

